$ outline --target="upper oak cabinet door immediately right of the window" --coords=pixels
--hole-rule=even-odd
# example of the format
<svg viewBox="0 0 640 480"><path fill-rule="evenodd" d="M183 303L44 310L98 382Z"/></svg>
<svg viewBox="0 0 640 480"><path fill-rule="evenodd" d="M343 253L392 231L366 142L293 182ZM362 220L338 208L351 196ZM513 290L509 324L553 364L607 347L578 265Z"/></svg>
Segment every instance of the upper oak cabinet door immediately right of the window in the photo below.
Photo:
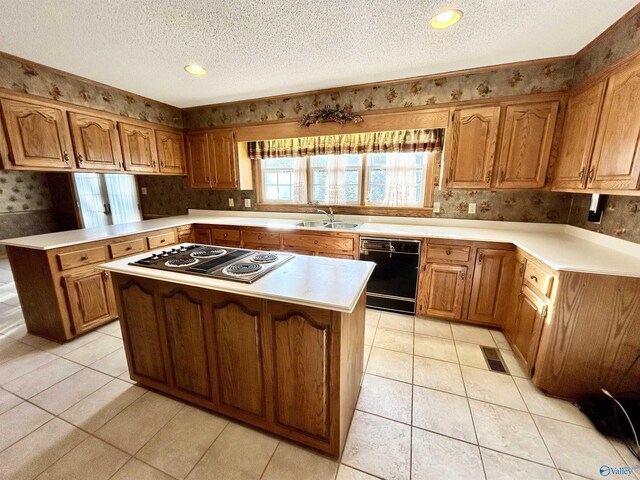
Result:
<svg viewBox="0 0 640 480"><path fill-rule="evenodd" d="M499 120L500 107L461 108L453 113L447 188L491 187Z"/></svg>

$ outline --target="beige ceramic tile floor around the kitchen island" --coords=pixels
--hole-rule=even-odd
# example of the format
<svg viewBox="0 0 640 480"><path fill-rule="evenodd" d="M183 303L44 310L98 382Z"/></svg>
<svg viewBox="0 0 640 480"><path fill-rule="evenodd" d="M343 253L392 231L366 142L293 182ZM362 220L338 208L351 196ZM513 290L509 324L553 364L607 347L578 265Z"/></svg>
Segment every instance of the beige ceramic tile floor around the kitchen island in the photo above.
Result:
<svg viewBox="0 0 640 480"><path fill-rule="evenodd" d="M0 259L0 479L567 480L631 461L541 394L500 332L373 310L366 329L338 462L134 385L117 322L63 345L29 335Z"/></svg>

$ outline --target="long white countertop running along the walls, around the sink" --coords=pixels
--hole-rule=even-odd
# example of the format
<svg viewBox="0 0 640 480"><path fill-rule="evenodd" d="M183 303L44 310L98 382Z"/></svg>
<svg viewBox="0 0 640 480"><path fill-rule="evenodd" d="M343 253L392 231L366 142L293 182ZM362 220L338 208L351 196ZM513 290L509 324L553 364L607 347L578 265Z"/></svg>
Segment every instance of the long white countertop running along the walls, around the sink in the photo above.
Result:
<svg viewBox="0 0 640 480"><path fill-rule="evenodd" d="M337 218L361 223L357 230L344 230L359 235L512 243L558 271L640 277L640 245L569 225L345 215ZM14 238L0 244L47 250L192 223L326 232L322 228L295 227L300 220L321 219L322 215L295 213L191 210L189 215Z"/></svg>

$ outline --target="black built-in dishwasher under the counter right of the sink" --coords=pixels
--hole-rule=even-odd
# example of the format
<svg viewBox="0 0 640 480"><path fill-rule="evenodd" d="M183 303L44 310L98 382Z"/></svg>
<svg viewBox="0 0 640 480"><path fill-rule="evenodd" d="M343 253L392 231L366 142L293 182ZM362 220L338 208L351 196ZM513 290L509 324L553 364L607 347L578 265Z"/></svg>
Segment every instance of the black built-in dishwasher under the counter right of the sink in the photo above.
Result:
<svg viewBox="0 0 640 480"><path fill-rule="evenodd" d="M360 260L376 267L367 283L367 307L416 313L420 240L360 237Z"/></svg>

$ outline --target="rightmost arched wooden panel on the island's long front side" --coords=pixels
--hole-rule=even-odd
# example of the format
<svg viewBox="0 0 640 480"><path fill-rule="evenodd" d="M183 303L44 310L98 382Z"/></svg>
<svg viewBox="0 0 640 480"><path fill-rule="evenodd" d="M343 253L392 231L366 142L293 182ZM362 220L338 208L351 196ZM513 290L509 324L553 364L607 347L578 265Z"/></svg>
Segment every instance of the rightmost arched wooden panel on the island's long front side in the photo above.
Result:
<svg viewBox="0 0 640 480"><path fill-rule="evenodd" d="M316 438L330 435L331 313L269 304L276 422ZM337 413L337 412L336 412ZM335 413L334 413L335 414Z"/></svg>

